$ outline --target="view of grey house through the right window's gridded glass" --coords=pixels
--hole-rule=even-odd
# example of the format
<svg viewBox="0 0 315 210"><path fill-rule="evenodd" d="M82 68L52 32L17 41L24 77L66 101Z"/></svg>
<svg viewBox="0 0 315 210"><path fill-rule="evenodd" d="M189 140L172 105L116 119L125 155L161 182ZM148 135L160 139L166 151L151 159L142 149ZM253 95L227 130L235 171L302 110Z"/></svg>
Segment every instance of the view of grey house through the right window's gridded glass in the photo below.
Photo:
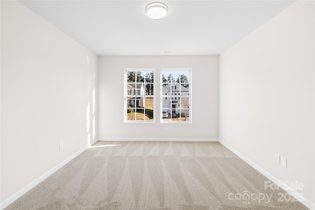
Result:
<svg viewBox="0 0 315 210"><path fill-rule="evenodd" d="M191 122L191 69L161 70L161 121Z"/></svg>

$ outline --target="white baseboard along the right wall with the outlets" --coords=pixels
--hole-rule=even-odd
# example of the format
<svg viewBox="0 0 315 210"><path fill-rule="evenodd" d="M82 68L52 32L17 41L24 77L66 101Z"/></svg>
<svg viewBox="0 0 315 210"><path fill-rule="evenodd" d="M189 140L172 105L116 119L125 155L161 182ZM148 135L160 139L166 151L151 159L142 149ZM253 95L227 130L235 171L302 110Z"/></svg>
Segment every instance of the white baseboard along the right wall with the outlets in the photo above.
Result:
<svg viewBox="0 0 315 210"><path fill-rule="evenodd" d="M290 186L288 186L286 183L284 183L283 181L279 180L278 178L274 177L273 175L269 174L267 171L265 171L264 169L262 169L260 166L258 166L257 164L255 164L254 162L252 162L250 159L248 159L247 157L245 157L244 155L242 155L240 152L234 150L233 148L231 148L230 146L228 146L227 144L225 144L224 142L222 142L219 139L219 142L226 147L227 149L231 150L234 154L236 154L238 157L240 157L241 159L243 159L245 162L247 162L248 164L250 164L254 169L256 169L258 172L260 172L261 174L263 174L265 177L267 177L269 180L273 181L274 183L278 184L282 189L284 189L284 191L286 191L287 193L289 193L290 195L294 196L294 195L298 195L298 192L294 189L292 189ZM309 208L310 210L315 210L315 204L310 201L307 198L304 198L303 196L300 196L300 198L297 198L302 204L304 204L307 208Z"/></svg>

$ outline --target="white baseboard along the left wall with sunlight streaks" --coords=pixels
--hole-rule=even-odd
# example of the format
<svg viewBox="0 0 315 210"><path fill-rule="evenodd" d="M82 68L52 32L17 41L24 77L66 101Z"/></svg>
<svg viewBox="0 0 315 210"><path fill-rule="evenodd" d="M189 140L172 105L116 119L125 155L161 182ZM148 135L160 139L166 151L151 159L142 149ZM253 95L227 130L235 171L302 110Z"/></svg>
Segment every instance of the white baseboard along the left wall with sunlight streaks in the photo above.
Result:
<svg viewBox="0 0 315 210"><path fill-rule="evenodd" d="M72 154L70 157L68 157L67 159L63 160L63 162L61 162L60 164L58 164L57 166L55 166L54 168L52 168L51 170L49 170L48 172L46 172L45 174L43 174L42 176L38 177L36 180L33 180L31 183L29 183L28 185L26 185L25 187L23 187L22 189L20 189L19 191L17 191L16 193L14 193L13 195L11 195L9 198L5 199L3 202L1 202L0 204L0 210L3 210L4 208L6 208L7 206L9 206L10 204L12 204L15 200L17 200L18 198L20 198L22 195L24 195L26 192L28 192L29 190L31 190L34 186L36 186L37 184L39 184L41 181L45 180L46 178L48 178L50 175L52 175L53 173L55 173L57 170L59 170L61 167L63 167L65 164L67 164L68 162L70 162L73 158L75 158L76 156L78 156L79 154L81 154L84 150L86 150L87 147L82 148L81 150L75 152L74 154Z"/></svg>

